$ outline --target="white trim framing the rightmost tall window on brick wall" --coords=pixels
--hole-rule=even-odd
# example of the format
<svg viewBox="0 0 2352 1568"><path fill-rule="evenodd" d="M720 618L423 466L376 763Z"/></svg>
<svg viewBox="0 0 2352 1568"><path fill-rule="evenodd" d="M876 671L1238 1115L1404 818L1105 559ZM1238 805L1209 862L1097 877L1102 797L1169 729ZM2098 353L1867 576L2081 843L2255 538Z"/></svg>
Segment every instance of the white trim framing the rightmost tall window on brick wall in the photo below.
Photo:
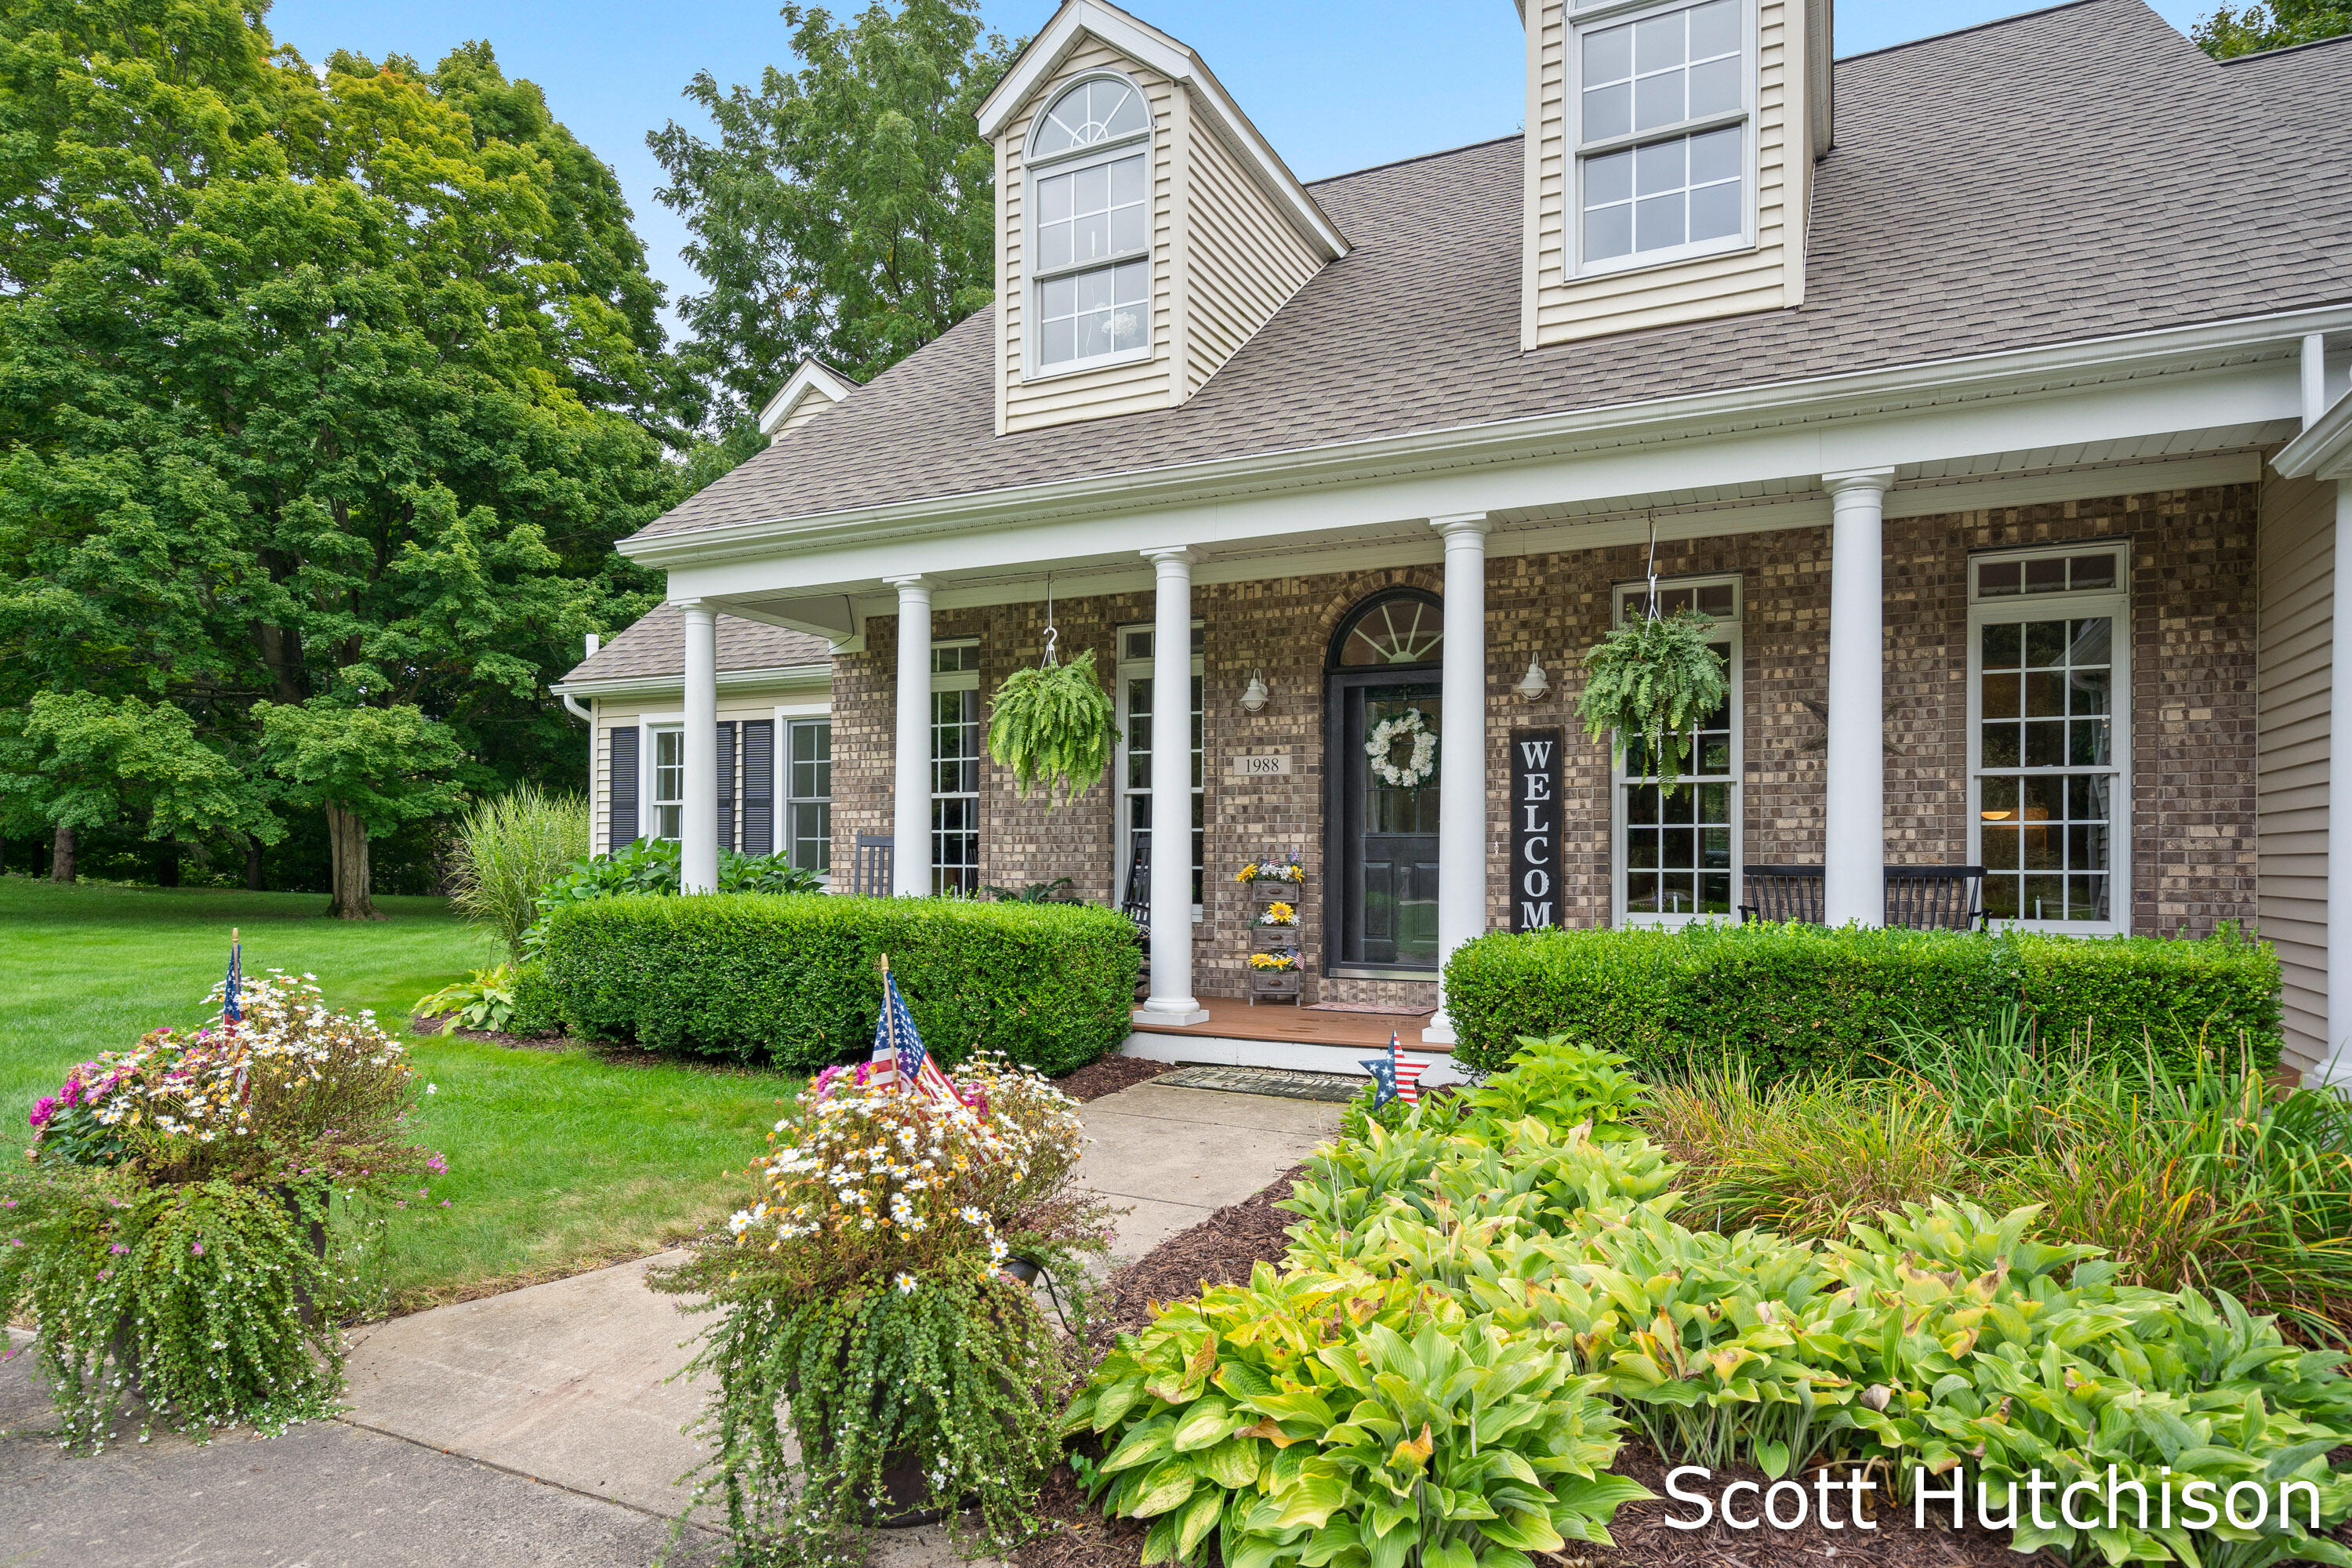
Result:
<svg viewBox="0 0 2352 1568"><path fill-rule="evenodd" d="M1999 599L1976 597L1976 569L1985 562L2023 562L2070 555L2096 555L2114 550L2114 588L2096 592L2018 592ZM1985 635L1987 621L2072 621L2079 616L2114 618L2112 661L2112 719L2107 755L2114 759L2114 820L2107 825L2110 870L2107 910L2110 919L1997 919L2004 931L2044 931L2049 936L2131 936L2131 541L2129 538L2082 538L2070 545L2037 545L2032 550L1987 550L1969 557L1969 865L1985 863L1985 806L1983 806L1983 708L1985 708ZM2023 611L2023 616L2020 616ZM2004 778L2030 778L2034 773L2096 773L2098 769L2002 769ZM1990 875L1990 872L1987 872Z"/></svg>

